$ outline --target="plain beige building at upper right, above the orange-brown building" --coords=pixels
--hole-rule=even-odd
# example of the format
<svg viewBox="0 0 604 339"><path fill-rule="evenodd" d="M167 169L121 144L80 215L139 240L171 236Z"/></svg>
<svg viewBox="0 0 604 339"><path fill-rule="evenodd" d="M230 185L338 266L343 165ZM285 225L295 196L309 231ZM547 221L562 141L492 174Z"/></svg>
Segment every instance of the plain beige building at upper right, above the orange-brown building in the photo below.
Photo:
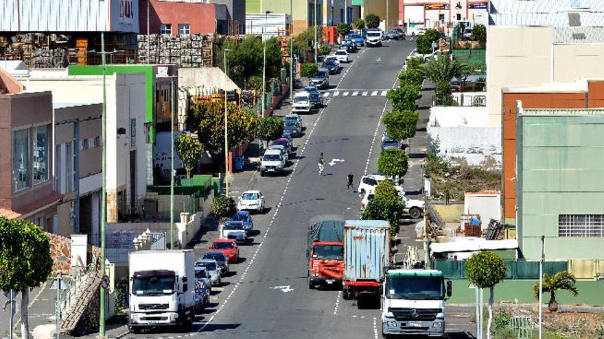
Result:
<svg viewBox="0 0 604 339"><path fill-rule="evenodd" d="M489 125L502 123L502 88L603 78L604 28L489 26Z"/></svg>

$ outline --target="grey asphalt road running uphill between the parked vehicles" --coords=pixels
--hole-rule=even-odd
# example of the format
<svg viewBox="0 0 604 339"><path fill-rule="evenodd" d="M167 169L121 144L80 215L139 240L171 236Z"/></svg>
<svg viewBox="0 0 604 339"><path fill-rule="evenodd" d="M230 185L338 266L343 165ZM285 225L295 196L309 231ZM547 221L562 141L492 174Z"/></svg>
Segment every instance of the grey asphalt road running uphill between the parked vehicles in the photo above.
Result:
<svg viewBox="0 0 604 339"><path fill-rule="evenodd" d="M257 234L240 247L242 260L231 266L222 288L214 288L211 305L196 318L189 333L161 331L126 334L126 338L377 338L381 335L379 305L359 309L343 300L338 290L309 290L306 280L306 229L313 216L339 214L357 218L358 194L346 191L347 173L355 185L363 173L375 172L380 149L379 126L390 110L381 93L393 87L413 42L389 42L351 54L332 88L326 107L303 115L304 135L294 140L295 157L287 175L260 177L254 171L237 173L231 180L235 197L259 189L266 197L266 214L255 215ZM335 92L340 92L334 96ZM344 96L343 92L367 95ZM288 113L288 106L275 111ZM375 143L374 143L375 142ZM318 156L328 163L318 175ZM196 245L201 256L218 236L210 227ZM462 323L467 323L463 319ZM125 327L124 327L125 329ZM469 338L467 336L454 338Z"/></svg>

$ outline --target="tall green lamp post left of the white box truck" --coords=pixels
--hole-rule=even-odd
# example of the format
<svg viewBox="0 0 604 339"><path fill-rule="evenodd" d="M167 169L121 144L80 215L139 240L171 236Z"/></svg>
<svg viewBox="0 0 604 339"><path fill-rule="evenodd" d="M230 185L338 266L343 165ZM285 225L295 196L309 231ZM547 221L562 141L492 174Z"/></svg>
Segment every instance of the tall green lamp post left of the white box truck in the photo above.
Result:
<svg viewBox="0 0 604 339"><path fill-rule="evenodd" d="M107 89L106 89L106 75L107 65L105 64L105 34L101 32L101 61L103 64L103 123L102 123L102 172L101 172L101 277L105 275L105 223L106 223L106 205L107 205L107 188L106 186L106 173L107 173L107 162L105 160L107 155ZM105 289L100 288L100 316L99 316L99 336L105 337Z"/></svg>

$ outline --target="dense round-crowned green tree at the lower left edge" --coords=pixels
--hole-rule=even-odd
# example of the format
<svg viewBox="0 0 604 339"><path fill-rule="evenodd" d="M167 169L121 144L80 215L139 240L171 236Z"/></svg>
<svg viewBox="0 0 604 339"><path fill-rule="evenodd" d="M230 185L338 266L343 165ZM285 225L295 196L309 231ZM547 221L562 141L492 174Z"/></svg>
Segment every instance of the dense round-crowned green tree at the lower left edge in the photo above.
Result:
<svg viewBox="0 0 604 339"><path fill-rule="evenodd" d="M21 292L21 338L29 339L27 305L30 288L40 286L52 271L50 238L29 221L0 217L0 290Z"/></svg>

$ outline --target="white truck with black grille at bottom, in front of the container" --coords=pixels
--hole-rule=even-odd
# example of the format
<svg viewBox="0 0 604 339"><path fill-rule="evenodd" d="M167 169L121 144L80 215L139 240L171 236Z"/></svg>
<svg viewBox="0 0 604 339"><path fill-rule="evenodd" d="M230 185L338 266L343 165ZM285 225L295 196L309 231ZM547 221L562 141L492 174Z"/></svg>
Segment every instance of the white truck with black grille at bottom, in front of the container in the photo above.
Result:
<svg viewBox="0 0 604 339"><path fill-rule="evenodd" d="M441 271L386 271L382 283L382 337L393 334L445 335L445 300L451 281Z"/></svg>

